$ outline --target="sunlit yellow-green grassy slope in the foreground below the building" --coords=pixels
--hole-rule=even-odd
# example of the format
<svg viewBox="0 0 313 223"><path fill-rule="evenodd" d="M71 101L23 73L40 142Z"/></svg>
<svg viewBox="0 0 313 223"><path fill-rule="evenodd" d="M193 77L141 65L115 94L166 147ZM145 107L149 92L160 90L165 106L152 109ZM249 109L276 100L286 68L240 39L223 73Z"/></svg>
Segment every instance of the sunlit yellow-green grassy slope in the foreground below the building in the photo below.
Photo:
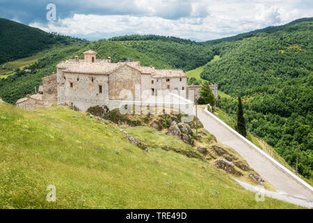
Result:
<svg viewBox="0 0 313 223"><path fill-rule="evenodd" d="M160 148L170 141L177 151L192 149L175 137L125 128L150 153L131 144L118 125L83 112L0 104L0 207L298 208L267 197L257 202L209 162ZM45 200L47 185L56 186L56 202Z"/></svg>

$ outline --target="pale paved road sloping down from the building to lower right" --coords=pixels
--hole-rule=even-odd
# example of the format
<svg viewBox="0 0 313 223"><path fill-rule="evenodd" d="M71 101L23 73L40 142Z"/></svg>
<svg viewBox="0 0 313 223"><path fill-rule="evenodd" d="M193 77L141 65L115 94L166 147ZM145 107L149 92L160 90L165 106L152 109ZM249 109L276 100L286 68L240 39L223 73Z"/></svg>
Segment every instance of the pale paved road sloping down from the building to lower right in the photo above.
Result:
<svg viewBox="0 0 313 223"><path fill-rule="evenodd" d="M214 118L205 114L198 108L198 118L203 123L204 128L216 139L227 146L234 148L262 178L271 183L278 192L289 194L294 197L313 201L313 192L304 185L291 178L289 174L279 169L273 162L248 146L242 139L230 130L218 123Z"/></svg>

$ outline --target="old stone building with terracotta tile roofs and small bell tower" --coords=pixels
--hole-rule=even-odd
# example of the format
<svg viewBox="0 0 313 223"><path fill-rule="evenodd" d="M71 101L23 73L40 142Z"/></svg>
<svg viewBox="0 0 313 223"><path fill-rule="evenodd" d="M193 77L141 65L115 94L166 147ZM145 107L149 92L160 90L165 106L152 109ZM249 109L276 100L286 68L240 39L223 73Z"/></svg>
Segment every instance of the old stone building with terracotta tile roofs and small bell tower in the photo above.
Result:
<svg viewBox="0 0 313 223"><path fill-rule="evenodd" d="M53 104L71 105L84 112L95 105L115 109L125 101L153 102L161 95L176 99L181 95L179 103L190 104L193 95L189 89L195 90L195 98L198 98L200 86L188 86L183 70L157 70L153 66L141 66L138 61L111 63L111 57L97 59L97 53L92 50L83 54L83 59L75 56L75 59L58 63L55 75L42 78L42 96L38 93L29 99L22 98L17 106L35 109ZM191 100L186 100L186 96ZM38 98L36 106L33 98ZM172 101L163 105L170 106Z"/></svg>

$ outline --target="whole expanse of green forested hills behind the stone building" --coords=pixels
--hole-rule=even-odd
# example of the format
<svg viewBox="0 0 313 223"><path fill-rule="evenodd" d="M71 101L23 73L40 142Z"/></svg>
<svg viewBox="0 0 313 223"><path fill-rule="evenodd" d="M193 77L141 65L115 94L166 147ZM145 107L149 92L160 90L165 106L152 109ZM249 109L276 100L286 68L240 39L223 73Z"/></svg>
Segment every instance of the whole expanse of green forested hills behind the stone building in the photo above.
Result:
<svg viewBox="0 0 313 223"><path fill-rule="evenodd" d="M0 63L31 56L42 49L49 48L49 52L26 67L31 72L15 70L6 79L0 78L0 98L14 104L34 93L42 77L56 72L57 63L75 55L82 58L88 49L95 50L99 59L111 56L113 62L141 61L143 66L184 71L203 66L214 55L220 55L201 74L232 96L220 98L218 107L235 118L240 95L247 130L267 141L292 167L296 166L299 145L298 170L312 180L312 36L313 19L305 18L204 43L154 35L88 42L1 19Z"/></svg>

